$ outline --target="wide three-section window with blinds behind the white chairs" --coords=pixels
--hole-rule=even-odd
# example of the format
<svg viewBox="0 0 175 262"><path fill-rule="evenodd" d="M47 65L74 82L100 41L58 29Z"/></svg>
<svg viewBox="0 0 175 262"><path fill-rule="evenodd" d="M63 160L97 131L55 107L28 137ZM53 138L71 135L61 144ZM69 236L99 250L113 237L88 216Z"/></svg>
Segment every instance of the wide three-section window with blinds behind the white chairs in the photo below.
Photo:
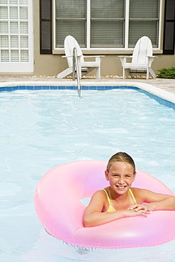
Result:
<svg viewBox="0 0 175 262"><path fill-rule="evenodd" d="M162 0L55 0L55 48L72 35L81 47L132 48L147 35L159 47Z"/></svg>

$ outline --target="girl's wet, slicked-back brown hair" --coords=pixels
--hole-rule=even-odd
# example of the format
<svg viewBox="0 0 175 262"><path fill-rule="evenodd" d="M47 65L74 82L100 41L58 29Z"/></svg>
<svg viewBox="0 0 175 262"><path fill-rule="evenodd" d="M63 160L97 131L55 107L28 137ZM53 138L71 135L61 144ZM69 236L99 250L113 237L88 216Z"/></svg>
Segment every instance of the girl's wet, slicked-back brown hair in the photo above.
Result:
<svg viewBox="0 0 175 262"><path fill-rule="evenodd" d="M135 173L135 162L129 154L127 154L125 152L118 152L118 153L114 154L113 156L111 156L111 159L109 159L109 161L108 161L106 171L109 171L112 164L115 163L115 162L126 162L126 163L131 164L131 166L134 169L134 173Z"/></svg>

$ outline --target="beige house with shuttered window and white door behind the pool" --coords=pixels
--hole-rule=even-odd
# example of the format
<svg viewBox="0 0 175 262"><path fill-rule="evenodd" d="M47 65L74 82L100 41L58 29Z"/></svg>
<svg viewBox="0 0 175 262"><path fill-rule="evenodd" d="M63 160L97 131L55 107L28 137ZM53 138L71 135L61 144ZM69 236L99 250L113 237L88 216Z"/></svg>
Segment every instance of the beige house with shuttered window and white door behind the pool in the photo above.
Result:
<svg viewBox="0 0 175 262"><path fill-rule="evenodd" d="M0 0L0 76L54 76L67 68L64 38L105 55L101 75L121 75L118 55L152 40L152 69L175 67L175 0Z"/></svg>

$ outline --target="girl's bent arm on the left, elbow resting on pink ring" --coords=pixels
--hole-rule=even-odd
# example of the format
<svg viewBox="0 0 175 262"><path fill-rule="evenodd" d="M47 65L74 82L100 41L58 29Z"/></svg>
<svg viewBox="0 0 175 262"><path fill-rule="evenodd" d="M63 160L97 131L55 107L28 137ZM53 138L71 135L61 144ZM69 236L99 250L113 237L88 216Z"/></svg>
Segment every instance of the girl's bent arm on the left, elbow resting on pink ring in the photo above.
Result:
<svg viewBox="0 0 175 262"><path fill-rule="evenodd" d="M122 217L135 217L138 215L147 215L143 210L135 212L135 210L118 210L115 212L102 212L106 202L106 193L103 190L98 190L91 198L91 202L86 207L84 212L83 222L84 227L94 227L99 224L106 224L113 220L118 220Z"/></svg>

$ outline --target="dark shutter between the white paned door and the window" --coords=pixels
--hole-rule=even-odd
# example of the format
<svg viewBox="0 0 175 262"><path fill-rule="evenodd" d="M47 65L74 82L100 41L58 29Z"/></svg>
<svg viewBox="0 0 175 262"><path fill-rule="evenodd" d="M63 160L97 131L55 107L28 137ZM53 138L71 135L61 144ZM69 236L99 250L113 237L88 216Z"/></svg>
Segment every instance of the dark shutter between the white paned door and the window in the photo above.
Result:
<svg viewBox="0 0 175 262"><path fill-rule="evenodd" d="M52 54L52 0L40 0L40 54Z"/></svg>

